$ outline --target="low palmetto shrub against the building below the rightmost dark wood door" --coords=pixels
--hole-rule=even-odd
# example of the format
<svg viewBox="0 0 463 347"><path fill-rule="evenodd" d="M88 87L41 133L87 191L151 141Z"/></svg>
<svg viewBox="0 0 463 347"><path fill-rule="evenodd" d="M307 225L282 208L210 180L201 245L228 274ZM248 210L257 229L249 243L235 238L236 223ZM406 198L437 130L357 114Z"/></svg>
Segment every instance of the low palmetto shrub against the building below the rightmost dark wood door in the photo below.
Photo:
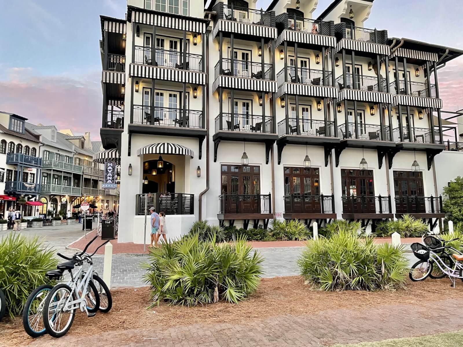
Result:
<svg viewBox="0 0 463 347"><path fill-rule="evenodd" d="M411 215L403 215L401 219L394 221L381 221L376 224L376 235L390 236L397 232L401 237L420 237L428 230L428 225L421 219Z"/></svg>

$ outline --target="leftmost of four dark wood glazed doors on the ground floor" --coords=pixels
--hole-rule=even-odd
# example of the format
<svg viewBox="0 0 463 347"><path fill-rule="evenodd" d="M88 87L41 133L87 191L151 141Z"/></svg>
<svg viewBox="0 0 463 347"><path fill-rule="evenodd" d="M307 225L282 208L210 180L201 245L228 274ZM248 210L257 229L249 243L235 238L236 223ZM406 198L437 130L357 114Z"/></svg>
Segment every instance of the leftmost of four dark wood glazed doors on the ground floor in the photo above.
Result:
<svg viewBox="0 0 463 347"><path fill-rule="evenodd" d="M221 166L224 213L260 212L260 167Z"/></svg>

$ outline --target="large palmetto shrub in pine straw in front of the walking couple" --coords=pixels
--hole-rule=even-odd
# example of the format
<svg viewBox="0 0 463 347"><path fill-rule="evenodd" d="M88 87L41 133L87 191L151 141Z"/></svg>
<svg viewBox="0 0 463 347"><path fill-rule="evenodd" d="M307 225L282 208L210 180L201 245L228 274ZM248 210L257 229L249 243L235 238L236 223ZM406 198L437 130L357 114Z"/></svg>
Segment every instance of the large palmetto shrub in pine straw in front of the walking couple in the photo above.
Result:
<svg viewBox="0 0 463 347"><path fill-rule="evenodd" d="M257 290L263 258L239 237L233 243L183 236L150 251L144 281L152 288L152 305L193 306L225 300L238 303Z"/></svg>

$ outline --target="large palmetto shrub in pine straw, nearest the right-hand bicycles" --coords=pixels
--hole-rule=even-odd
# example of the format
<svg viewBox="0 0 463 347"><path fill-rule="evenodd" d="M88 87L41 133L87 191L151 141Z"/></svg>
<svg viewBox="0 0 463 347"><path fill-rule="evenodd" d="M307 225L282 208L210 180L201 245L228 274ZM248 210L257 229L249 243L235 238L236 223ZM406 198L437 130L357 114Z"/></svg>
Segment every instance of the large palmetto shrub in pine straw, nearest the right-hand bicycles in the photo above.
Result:
<svg viewBox="0 0 463 347"><path fill-rule="evenodd" d="M298 265L302 277L321 290L394 290L404 285L405 253L403 246L375 245L372 237L342 228L308 241Z"/></svg>

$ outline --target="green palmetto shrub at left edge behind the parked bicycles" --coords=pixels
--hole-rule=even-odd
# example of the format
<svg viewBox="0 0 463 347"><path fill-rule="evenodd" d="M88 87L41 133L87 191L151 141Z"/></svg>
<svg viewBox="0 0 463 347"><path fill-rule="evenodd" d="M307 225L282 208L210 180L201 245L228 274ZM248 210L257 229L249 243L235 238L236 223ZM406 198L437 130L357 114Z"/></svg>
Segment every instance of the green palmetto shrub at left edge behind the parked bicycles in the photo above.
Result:
<svg viewBox="0 0 463 347"><path fill-rule="evenodd" d="M6 310L11 317L18 316L25 301L45 279L48 270L56 269L54 251L44 247L38 237L27 239L24 235L5 235L0 240L0 288L6 297Z"/></svg>

